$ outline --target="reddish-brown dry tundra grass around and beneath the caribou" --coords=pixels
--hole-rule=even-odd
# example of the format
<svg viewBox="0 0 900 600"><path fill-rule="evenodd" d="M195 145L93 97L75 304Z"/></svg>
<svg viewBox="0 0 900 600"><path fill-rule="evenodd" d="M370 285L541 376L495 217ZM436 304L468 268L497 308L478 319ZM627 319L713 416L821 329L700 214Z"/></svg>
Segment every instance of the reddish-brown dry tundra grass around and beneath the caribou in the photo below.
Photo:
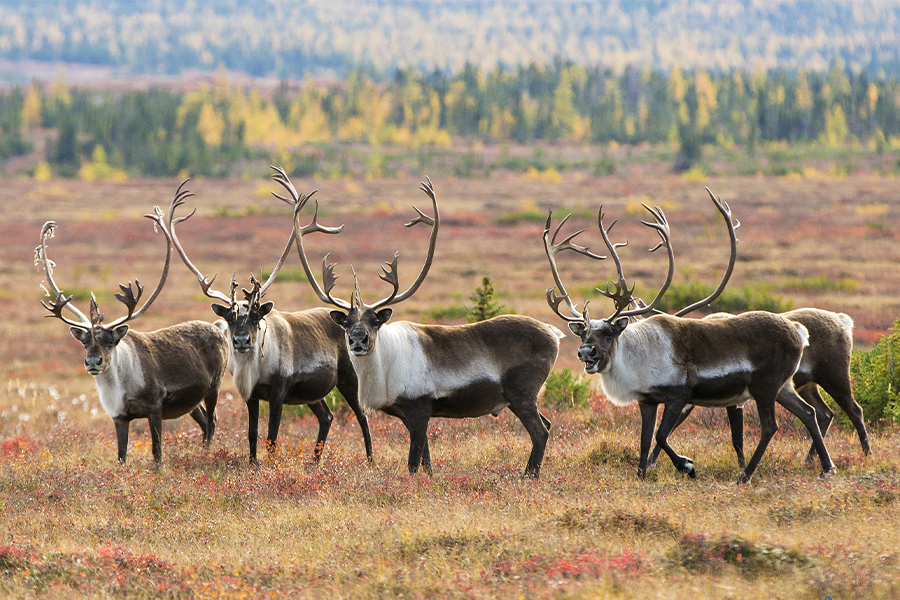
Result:
<svg viewBox="0 0 900 600"><path fill-rule="evenodd" d="M321 189L323 223L347 224L345 239L310 238L313 260L335 250L332 258L341 263L339 283L345 286L353 262L369 298L384 290L376 265L394 249L401 250L401 278L414 272L427 232L403 230L399 223L412 214L409 204L426 205L415 183L295 181L301 190ZM743 178L708 185L742 222L735 284L766 280L780 290L798 278L852 277L859 282L852 294L784 293L795 306L850 314L860 345L871 343L900 314L898 233L890 226L900 210L894 181ZM434 421L433 478L406 474L407 434L381 415L372 418L374 467L365 463L352 418L339 419L322 465L313 466L314 420L295 417L283 424L277 456L253 470L246 464L246 412L228 379L210 453L201 450L200 431L190 419L167 421L164 467L153 470L146 422L134 422L129 463L118 466L113 426L81 367L80 345L60 323L43 318L41 274L31 266L32 250L43 221L58 221L50 242L59 264L57 281L67 289L94 289L104 310L118 314L111 299L115 283L135 276L155 283L164 244L140 215L153 203L167 202L176 186L174 181L4 181L0 356L7 385L0 388L0 595L900 594L897 429L876 432L875 454L865 459L852 433L834 429L826 443L839 471L820 480L817 468L801 464L805 435L782 412L782 429L753 483L737 486L724 417L706 411L673 439L694 458L698 479L683 479L663 459L639 482L637 412L595 396L590 411L549 415L554 428L537 482L519 479L530 444L509 413ZM200 210L183 224L181 237L200 268L222 278L234 270L271 268L290 224L276 201L259 198L258 186L192 182ZM420 292L399 307L400 318L418 320L431 307L467 302L488 272L504 304L553 322L543 299L549 274L540 245L542 224L498 220L520 211L526 198L582 214L602 202L610 216L621 219L614 231L632 240L623 256L629 273L647 288L659 280L664 259L644 256L652 236L626 215L635 198L681 206L672 204L667 214L682 279L690 271L695 279L714 281L727 259L724 227L702 187L674 177L623 173L601 180L564 176L550 183L498 175L436 181L435 187L445 219L437 259ZM888 206L887 213L857 210L876 204ZM217 210L250 216L216 217ZM589 229L584 243L599 246L593 220L576 221L573 228ZM295 258L290 266L296 266ZM569 258L560 266L573 285L598 284L612 272L610 265ZM586 276L586 269L592 275ZM281 309L312 305L302 282L277 283L269 299ZM169 286L137 326L210 319L208 304L176 264ZM563 343L558 366L577 368L575 347L572 339ZM751 427L748 448L757 435Z"/></svg>

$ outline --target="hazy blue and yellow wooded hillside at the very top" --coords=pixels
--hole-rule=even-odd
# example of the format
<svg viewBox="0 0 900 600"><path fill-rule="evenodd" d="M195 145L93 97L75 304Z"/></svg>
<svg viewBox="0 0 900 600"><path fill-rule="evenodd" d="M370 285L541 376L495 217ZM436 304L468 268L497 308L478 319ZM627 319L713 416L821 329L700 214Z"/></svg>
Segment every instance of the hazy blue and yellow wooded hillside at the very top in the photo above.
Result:
<svg viewBox="0 0 900 600"><path fill-rule="evenodd" d="M52 6L52 10L48 8ZM900 0L0 0L0 60L131 74L343 76L555 58L668 69L900 72Z"/></svg>

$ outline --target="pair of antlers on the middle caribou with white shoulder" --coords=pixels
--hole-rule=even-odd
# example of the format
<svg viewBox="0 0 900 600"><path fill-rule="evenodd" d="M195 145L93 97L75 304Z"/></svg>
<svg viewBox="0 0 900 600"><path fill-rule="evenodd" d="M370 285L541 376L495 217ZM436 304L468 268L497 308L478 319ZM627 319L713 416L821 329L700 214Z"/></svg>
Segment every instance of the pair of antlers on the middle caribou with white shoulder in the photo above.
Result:
<svg viewBox="0 0 900 600"><path fill-rule="evenodd" d="M391 284L393 288L391 293L386 297L382 298L375 304L371 306L366 305L362 301L362 297L359 291L359 281L356 278L356 273L353 273L353 278L355 282L355 291L354 295L351 296L351 301L347 302L346 300L342 300L341 298L335 298L331 295L331 290L334 288L334 285L337 281L337 276L334 274L334 264L328 264L326 261L328 260L328 255L325 255L325 258L322 259L322 280L325 284L325 289L323 290L319 287L318 282L312 274L312 269L309 268L309 262L306 258L306 252L303 249L303 236L307 233L312 233L313 231L321 231L324 233L338 233L343 229L343 225L341 227L322 227L316 222L315 215L313 215L313 221L306 227L300 227L299 221L299 208L294 210L294 237L297 240L297 251L300 253L300 261L303 265L303 270L306 273L307 279L309 279L310 285L312 285L313 290L316 292L316 295L323 302L327 302L329 304L333 304L338 308L344 310L351 310L353 308L354 301L359 304L361 308L368 308L372 310L378 310L384 306L388 306L390 304L396 304L398 302L402 302L406 300L410 296L412 296L416 290L419 289L419 286L422 285L422 282L425 281L425 276L428 274L429 269L431 268L431 263L434 260L434 250L437 245L437 232L440 227L440 213L438 212L437 206L437 197L434 193L434 186L431 183L431 179L425 178L427 183L422 182L419 185L419 189L425 192L429 198L431 198L432 206L434 208L434 217L429 217L421 210L413 206L413 209L419 214L415 219L410 221L409 223L405 223L404 227L412 227L414 225L418 225L419 223L425 223L431 226L431 237L428 243L428 254L425 258L425 264L422 266L419 275L416 277L416 280L406 289L402 294L398 294L397 291L400 289L400 280L397 276L397 260L400 256L399 252L394 254L393 260L391 262L385 262L381 267L381 273L378 274L378 277L382 281L386 281ZM318 205L316 206L316 210L318 212ZM352 270L352 267L351 267ZM355 300L354 300L355 298Z"/></svg>

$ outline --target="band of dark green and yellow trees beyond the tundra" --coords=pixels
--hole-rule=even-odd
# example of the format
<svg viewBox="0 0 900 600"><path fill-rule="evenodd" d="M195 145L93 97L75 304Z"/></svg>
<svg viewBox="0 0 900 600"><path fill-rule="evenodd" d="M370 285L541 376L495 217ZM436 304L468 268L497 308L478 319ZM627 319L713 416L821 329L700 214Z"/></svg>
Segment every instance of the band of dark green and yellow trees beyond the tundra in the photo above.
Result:
<svg viewBox="0 0 900 600"><path fill-rule="evenodd" d="M490 71L362 71L342 81L283 82L274 93L212 78L196 91L114 91L34 83L0 93L0 159L43 146L40 168L63 176L233 174L254 159L294 172L348 174L353 148L367 174L385 152L488 143L669 144L676 168L702 148L762 143L900 145L900 80L839 61L821 72L675 68L622 72L556 61ZM447 150L449 152L449 150ZM523 165L508 159L507 168ZM464 173L463 173L464 174Z"/></svg>

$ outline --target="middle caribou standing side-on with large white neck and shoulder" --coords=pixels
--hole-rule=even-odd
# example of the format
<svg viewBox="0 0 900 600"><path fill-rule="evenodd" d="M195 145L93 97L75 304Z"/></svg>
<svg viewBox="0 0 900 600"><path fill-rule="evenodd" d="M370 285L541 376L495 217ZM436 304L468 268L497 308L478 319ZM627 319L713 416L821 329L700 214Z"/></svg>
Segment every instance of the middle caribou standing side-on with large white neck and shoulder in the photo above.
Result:
<svg viewBox="0 0 900 600"><path fill-rule="evenodd" d="M350 360L359 377L359 401L366 412L381 410L398 417L409 431L410 473L420 465L433 473L428 452L428 421L432 417L472 418L497 415L506 407L531 437L532 449L524 477L540 474L550 437L550 421L538 411L537 397L559 352L561 331L520 315L503 315L467 325L388 323L390 305L412 296L425 280L434 258L440 214L431 180L420 189L434 207L434 217L418 208L418 217L406 224L431 226L425 264L406 291L398 293L397 259L382 266L379 277L391 293L372 305L364 304L354 272L355 291L350 302L335 298L334 264L322 260L324 290L316 281L303 249L303 237L322 228L300 226L294 211L294 237L307 279L320 300L336 306L334 322L343 327ZM352 267L351 267L352 270Z"/></svg>

